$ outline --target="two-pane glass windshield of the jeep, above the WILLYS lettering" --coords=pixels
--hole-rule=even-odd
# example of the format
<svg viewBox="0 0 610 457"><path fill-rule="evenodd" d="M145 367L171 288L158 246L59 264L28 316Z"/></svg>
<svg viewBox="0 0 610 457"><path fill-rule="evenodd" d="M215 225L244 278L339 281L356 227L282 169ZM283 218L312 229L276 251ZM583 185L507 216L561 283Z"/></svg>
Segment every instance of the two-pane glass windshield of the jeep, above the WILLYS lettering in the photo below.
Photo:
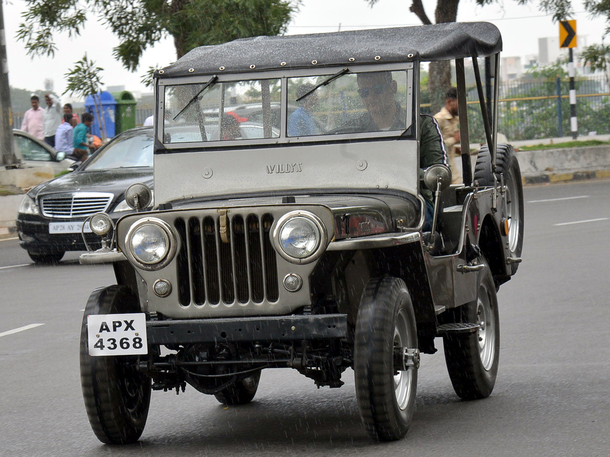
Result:
<svg viewBox="0 0 610 457"><path fill-rule="evenodd" d="M228 141L289 143L339 140L346 135L397 136L408 129L413 106L411 66L387 71L350 68L340 73L325 69L314 76L248 80L223 75L207 87L209 77L181 84L168 79L160 87L163 143L172 147Z"/></svg>

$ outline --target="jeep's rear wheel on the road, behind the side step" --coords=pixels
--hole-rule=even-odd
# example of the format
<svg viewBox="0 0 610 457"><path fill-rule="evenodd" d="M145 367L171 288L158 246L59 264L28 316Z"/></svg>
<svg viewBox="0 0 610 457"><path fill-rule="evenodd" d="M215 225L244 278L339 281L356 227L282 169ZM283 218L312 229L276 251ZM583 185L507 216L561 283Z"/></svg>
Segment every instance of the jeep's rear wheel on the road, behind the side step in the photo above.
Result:
<svg viewBox="0 0 610 457"><path fill-rule="evenodd" d="M476 333L443 336L445 362L453 389L464 400L489 397L500 359L500 316L495 283L486 263L476 300L456 308L456 322L481 324Z"/></svg>

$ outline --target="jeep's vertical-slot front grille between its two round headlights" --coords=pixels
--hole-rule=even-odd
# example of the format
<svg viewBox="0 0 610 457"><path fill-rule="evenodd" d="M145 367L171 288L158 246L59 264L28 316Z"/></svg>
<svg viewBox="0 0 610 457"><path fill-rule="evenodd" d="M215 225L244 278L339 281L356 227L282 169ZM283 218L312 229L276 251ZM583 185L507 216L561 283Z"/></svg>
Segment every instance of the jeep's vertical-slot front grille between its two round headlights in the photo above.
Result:
<svg viewBox="0 0 610 457"><path fill-rule="evenodd" d="M177 256L181 305L276 302L278 271L271 224L270 214L230 211L226 216L176 219L182 241ZM226 235L221 234L225 230Z"/></svg>

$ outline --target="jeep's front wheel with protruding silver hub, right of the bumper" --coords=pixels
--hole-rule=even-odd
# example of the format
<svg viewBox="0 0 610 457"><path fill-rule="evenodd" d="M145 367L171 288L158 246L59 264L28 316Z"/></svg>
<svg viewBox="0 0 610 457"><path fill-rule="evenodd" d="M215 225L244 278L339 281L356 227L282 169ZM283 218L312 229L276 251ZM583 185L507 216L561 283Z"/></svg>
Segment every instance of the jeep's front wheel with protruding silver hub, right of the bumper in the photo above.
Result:
<svg viewBox="0 0 610 457"><path fill-rule="evenodd" d="M381 441L403 438L415 411L417 368L396 371L395 347L417 348L411 296L403 280L368 282L354 335L354 378L362 423Z"/></svg>

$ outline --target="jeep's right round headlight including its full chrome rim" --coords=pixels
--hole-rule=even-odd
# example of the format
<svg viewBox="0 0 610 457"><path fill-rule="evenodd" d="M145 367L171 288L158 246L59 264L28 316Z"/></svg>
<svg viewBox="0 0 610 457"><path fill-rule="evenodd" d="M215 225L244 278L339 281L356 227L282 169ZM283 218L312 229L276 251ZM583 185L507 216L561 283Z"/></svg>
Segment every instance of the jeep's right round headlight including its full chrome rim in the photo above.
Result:
<svg viewBox="0 0 610 457"><path fill-rule="evenodd" d="M292 263L309 263L323 252L326 230L309 211L292 211L279 219L273 234L276 249Z"/></svg>

